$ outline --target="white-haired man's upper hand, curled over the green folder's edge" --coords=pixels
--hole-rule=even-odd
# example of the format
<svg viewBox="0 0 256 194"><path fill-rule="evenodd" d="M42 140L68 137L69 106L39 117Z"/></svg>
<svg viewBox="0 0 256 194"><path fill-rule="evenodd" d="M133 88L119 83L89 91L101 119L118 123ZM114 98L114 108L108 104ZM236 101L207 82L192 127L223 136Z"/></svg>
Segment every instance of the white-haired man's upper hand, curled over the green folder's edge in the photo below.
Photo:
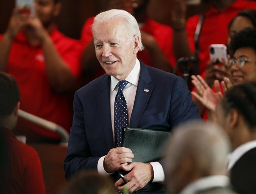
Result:
<svg viewBox="0 0 256 194"><path fill-rule="evenodd" d="M132 162L134 155L132 150L126 147L116 147L109 150L103 161L104 169L107 173L123 169L128 162Z"/></svg>

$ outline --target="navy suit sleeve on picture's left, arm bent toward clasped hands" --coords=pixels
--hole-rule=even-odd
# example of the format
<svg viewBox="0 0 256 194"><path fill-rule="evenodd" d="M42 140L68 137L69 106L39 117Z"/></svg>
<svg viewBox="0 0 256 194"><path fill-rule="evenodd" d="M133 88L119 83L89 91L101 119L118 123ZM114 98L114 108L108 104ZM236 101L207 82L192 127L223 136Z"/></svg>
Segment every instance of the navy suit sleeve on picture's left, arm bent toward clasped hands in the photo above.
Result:
<svg viewBox="0 0 256 194"><path fill-rule="evenodd" d="M83 105L76 92L73 124L68 141L67 156L64 160L65 177L67 180L79 170L97 169L100 157L92 157L84 126Z"/></svg>

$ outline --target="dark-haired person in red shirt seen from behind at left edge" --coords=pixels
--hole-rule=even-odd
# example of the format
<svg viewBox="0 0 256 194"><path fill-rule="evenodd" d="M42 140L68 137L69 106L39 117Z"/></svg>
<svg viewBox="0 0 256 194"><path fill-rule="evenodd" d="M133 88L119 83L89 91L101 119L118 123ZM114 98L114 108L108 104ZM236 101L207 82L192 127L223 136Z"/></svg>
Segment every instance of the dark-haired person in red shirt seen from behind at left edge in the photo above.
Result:
<svg viewBox="0 0 256 194"><path fill-rule="evenodd" d="M1 150L5 149L5 154L1 153L0 193L45 194L37 152L16 139L12 132L17 123L19 106L17 82L10 75L0 72L0 132L6 146L1 147Z"/></svg>

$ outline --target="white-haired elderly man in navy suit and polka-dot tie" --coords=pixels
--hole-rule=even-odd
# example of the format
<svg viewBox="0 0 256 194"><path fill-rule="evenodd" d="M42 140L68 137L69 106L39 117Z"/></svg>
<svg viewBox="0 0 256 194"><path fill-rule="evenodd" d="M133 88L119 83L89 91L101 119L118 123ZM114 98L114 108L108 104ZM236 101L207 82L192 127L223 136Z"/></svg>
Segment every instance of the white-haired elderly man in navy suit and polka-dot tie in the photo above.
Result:
<svg viewBox="0 0 256 194"><path fill-rule="evenodd" d="M66 178L79 170L101 174L130 171L119 190L130 192L165 179L159 162L132 162L121 147L123 126L171 131L178 123L200 119L184 80L148 67L136 58L143 49L138 23L124 10L99 13L92 26L95 52L106 74L75 93L74 120L64 161ZM149 145L150 146L150 145Z"/></svg>

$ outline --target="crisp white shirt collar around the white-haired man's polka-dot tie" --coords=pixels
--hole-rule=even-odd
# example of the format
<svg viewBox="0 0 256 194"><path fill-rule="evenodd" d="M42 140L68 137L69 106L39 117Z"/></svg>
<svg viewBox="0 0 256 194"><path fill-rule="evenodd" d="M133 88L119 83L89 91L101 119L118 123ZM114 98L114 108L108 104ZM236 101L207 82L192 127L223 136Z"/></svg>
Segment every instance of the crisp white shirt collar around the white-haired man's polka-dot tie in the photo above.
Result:
<svg viewBox="0 0 256 194"><path fill-rule="evenodd" d="M135 66L133 67L132 71L129 73L129 75L127 76L127 78L125 80L135 86L138 86L139 77L140 77L140 61L136 58ZM116 78L114 78L113 76L110 76L110 78L111 78L111 91L110 92L112 93L114 91L114 89L116 88L119 81Z"/></svg>

